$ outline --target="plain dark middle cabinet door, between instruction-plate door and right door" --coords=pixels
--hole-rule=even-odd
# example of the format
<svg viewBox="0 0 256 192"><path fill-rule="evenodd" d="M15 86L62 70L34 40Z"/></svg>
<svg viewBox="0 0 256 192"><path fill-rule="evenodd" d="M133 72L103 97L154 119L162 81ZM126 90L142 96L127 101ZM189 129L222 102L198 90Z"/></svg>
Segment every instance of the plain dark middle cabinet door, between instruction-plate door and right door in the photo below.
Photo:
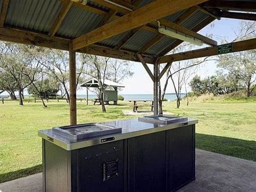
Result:
<svg viewBox="0 0 256 192"><path fill-rule="evenodd" d="M128 191L166 190L166 132L128 139Z"/></svg>

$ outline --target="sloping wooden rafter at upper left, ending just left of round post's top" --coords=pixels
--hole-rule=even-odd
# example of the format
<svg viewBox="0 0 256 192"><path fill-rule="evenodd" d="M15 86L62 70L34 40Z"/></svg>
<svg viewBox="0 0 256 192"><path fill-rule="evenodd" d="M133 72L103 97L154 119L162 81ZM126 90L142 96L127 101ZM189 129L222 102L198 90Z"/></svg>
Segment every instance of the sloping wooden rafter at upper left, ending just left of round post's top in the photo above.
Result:
<svg viewBox="0 0 256 192"><path fill-rule="evenodd" d="M59 15L55 19L55 21L54 21L54 23L52 25L52 28L50 29L50 32L48 34L49 36L53 37L55 35L55 33L59 29L62 21L64 20L65 16L67 15L67 13L68 13L68 11L69 11L69 9L71 8L72 5L73 5L73 1L67 0L65 2L64 6L60 10Z"/></svg>

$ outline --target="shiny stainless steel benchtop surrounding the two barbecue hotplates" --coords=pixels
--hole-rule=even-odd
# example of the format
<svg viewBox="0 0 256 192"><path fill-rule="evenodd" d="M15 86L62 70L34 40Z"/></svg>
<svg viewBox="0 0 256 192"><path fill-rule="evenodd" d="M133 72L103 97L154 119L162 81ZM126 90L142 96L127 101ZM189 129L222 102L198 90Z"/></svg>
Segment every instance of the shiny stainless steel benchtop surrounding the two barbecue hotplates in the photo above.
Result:
<svg viewBox="0 0 256 192"><path fill-rule="evenodd" d="M185 122L184 122L185 123ZM108 135L103 137L95 137L88 140L82 140L78 142L74 142L68 137L64 137L63 135L59 135L52 131L52 129L44 129L39 130L38 135L39 137L42 137L45 140L48 140L55 145L58 145L68 151L89 147L92 145L98 145L103 144L101 142L104 138L114 137L115 139L109 142L113 142L116 140L122 140L127 139L131 137L137 137L140 135L146 135L150 133L155 133L159 131L165 131L169 129L175 129L178 127L183 127L186 125L192 125L198 123L197 119L188 119L187 124L183 125L183 123L173 123L168 125L163 124L155 124L155 123L146 123L142 121L138 121L138 118L136 119L125 119L125 120L118 120L118 121L109 121L109 122L103 122L102 124L105 125L111 125L116 127L122 127L122 133L115 134L115 135ZM107 142L105 142L107 143Z"/></svg>

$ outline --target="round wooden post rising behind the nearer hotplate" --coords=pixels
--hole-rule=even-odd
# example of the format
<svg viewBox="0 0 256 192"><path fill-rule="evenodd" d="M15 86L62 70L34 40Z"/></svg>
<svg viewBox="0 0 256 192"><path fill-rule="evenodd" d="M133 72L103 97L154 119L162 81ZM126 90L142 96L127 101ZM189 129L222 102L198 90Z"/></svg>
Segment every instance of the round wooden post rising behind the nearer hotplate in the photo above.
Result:
<svg viewBox="0 0 256 192"><path fill-rule="evenodd" d="M72 42L69 44L69 95L70 124L76 125L76 52Z"/></svg>

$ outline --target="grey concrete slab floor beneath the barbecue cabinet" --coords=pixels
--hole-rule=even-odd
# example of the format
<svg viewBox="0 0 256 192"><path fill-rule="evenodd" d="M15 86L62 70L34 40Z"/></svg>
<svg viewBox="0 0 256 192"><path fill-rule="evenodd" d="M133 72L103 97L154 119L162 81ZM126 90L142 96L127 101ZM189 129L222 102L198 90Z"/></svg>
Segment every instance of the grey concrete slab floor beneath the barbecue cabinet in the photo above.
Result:
<svg viewBox="0 0 256 192"><path fill-rule="evenodd" d="M0 192L42 191L42 173L0 184ZM178 192L255 192L256 162L196 149L196 180Z"/></svg>

